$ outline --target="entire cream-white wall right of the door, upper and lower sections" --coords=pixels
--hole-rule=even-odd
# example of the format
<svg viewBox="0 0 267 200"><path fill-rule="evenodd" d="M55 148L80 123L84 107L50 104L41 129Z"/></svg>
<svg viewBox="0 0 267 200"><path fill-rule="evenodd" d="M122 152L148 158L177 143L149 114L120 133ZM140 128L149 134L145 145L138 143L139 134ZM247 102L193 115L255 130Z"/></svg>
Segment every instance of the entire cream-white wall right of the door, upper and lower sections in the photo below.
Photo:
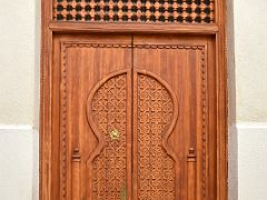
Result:
<svg viewBox="0 0 267 200"><path fill-rule="evenodd" d="M236 107L237 126L230 129L229 166L230 173L236 172L235 167L238 173L230 174L230 178L235 181L238 177L238 184L235 187L238 187L239 200L266 200L267 1L235 0L233 2L236 69L230 70L229 77L235 73L235 78L231 79L236 92L234 94L230 88L230 103L236 102L236 104L230 108ZM238 158L237 164L231 160L233 158ZM233 192L231 190L229 192Z"/></svg>

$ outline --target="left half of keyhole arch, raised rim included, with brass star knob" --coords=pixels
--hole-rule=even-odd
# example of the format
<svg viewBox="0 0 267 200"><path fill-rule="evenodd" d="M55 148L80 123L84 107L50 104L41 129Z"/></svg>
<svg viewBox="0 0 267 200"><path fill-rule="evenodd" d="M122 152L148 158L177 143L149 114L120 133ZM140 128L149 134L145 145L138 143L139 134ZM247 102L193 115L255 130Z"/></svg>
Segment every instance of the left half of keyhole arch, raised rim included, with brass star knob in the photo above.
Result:
<svg viewBox="0 0 267 200"><path fill-rule="evenodd" d="M131 188L130 72L119 70L106 77L88 98L87 117L98 138L87 161L92 186L88 199L126 199Z"/></svg>

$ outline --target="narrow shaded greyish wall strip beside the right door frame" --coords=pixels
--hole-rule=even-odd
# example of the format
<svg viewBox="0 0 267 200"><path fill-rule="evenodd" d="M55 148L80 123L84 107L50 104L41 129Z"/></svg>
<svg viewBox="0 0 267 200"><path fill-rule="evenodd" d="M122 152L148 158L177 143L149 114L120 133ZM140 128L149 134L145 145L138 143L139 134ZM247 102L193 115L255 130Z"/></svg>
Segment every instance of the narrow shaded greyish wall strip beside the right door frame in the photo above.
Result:
<svg viewBox="0 0 267 200"><path fill-rule="evenodd" d="M227 0L228 58L228 199L238 200L238 139L236 129L236 63L234 2Z"/></svg>

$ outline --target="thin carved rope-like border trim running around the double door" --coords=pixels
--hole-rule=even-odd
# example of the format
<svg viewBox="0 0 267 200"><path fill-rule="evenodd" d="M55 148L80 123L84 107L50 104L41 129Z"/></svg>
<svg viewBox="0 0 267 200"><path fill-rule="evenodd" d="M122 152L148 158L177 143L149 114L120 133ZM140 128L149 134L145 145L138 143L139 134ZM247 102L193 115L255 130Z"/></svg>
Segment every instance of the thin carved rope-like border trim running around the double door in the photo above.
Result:
<svg viewBox="0 0 267 200"><path fill-rule="evenodd" d="M202 116L202 197L206 198L206 152L207 152L207 70L206 70L206 46L182 46L182 44L116 44L116 43L90 43L78 41L61 41L61 76L62 76L62 94L60 101L63 104L62 113L60 112L60 161L62 167L60 168L60 198L65 200L67 198L67 49L68 48L139 48L139 49L186 49L186 50L200 50L201 51L201 116Z"/></svg>

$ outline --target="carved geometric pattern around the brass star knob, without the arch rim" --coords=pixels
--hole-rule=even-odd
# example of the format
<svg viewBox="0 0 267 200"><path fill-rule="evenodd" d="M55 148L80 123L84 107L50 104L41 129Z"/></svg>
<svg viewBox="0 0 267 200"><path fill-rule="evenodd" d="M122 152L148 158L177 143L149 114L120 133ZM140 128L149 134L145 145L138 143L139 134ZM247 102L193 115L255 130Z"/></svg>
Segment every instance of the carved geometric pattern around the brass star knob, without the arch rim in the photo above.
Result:
<svg viewBox="0 0 267 200"><path fill-rule="evenodd" d="M126 184L126 74L105 82L93 94L92 120L103 136L103 149L92 160L92 199L118 200ZM112 140L110 132L119 131Z"/></svg>

